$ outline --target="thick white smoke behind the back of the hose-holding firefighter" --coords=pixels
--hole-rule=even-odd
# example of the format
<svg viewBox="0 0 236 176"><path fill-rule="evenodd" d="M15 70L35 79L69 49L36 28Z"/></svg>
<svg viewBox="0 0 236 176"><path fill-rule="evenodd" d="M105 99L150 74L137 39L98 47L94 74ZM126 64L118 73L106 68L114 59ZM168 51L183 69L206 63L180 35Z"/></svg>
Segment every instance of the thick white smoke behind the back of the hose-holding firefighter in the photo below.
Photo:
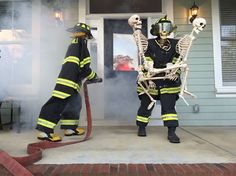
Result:
<svg viewBox="0 0 236 176"><path fill-rule="evenodd" d="M19 1L15 7L14 13L18 16L14 18L13 26L8 30L1 26L0 100L19 100L23 128L34 128L39 111L55 86L70 37L65 25L58 25L53 18L52 8L42 5L41 12L34 12L31 5L24 2L19 5ZM12 6L9 8L11 11ZM40 18L34 19L34 16ZM32 35L29 19L40 33ZM9 13L6 17L2 15L0 20L11 20Z"/></svg>

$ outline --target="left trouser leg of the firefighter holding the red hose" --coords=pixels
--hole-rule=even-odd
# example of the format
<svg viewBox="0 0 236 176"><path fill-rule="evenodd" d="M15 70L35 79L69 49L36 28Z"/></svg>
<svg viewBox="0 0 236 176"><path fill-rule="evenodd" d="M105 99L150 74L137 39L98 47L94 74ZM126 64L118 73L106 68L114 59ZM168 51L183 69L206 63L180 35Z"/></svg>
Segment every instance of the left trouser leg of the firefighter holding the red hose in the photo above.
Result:
<svg viewBox="0 0 236 176"><path fill-rule="evenodd" d="M46 133L53 133L67 101L68 98L60 99L51 97L41 108L36 129Z"/></svg>

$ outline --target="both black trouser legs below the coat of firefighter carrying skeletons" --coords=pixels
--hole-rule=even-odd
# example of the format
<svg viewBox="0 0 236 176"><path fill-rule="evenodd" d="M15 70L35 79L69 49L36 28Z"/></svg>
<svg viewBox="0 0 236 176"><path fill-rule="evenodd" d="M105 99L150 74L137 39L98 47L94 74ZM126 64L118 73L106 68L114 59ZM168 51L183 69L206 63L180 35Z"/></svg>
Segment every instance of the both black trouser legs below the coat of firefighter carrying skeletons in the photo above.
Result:
<svg viewBox="0 0 236 176"><path fill-rule="evenodd" d="M154 99L157 99L157 96L152 96ZM160 103L161 103L161 118L163 120L164 126L167 127L177 127L179 126L178 117L175 110L175 103L178 99L178 94L160 94L159 96ZM147 94L143 94L140 97L141 103L138 109L137 117L136 117L136 124L137 126L144 126L146 127L152 114L152 110L148 109L148 105L151 103L150 98Z"/></svg>

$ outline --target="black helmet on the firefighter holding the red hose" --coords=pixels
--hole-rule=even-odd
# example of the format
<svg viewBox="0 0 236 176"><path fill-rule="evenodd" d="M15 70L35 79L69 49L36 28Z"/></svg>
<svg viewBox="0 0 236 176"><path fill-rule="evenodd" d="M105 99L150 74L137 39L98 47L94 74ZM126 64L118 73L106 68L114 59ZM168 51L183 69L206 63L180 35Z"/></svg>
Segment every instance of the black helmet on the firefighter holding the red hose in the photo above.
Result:
<svg viewBox="0 0 236 176"><path fill-rule="evenodd" d="M90 26L85 23L77 23L74 27L67 29L67 31L71 33L81 32L84 33L85 36L88 37L88 39L93 38Z"/></svg>

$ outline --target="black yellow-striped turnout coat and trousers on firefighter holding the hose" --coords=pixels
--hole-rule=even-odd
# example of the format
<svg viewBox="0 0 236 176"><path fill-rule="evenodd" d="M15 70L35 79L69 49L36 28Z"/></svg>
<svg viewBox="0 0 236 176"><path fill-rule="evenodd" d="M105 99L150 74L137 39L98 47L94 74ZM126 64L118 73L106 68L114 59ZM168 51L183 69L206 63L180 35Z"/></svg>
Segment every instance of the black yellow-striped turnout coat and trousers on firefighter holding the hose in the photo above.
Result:
<svg viewBox="0 0 236 176"><path fill-rule="evenodd" d="M78 126L81 110L79 91L82 80L85 78L91 80L97 77L96 73L90 68L90 62L91 58L86 40L73 38L56 80L52 97L43 105L40 111L36 129L53 133L59 120L61 120L61 128L63 129L74 129ZM73 103L73 107L71 102L77 104ZM65 109L68 104L70 106Z"/></svg>

